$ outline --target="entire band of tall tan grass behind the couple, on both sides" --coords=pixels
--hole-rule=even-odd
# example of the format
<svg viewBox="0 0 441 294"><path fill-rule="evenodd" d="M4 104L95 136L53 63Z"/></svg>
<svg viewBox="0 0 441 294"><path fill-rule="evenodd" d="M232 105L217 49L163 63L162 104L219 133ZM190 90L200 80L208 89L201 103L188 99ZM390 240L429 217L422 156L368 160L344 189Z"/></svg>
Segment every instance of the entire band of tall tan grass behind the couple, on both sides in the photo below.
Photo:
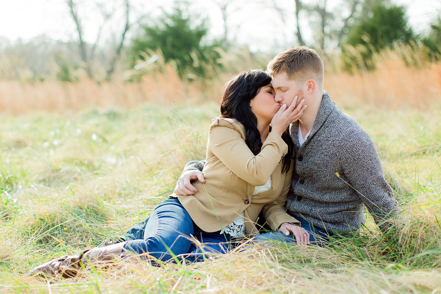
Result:
<svg viewBox="0 0 441 294"><path fill-rule="evenodd" d="M34 84L0 81L0 109L13 114L29 111L78 110L92 106L134 108L146 102L165 104L216 102L228 74L212 81L183 82L171 66L146 75L140 82L45 81ZM350 75L328 72L324 89L344 105L427 107L441 100L441 63L407 67L400 58L382 60L376 71Z"/></svg>

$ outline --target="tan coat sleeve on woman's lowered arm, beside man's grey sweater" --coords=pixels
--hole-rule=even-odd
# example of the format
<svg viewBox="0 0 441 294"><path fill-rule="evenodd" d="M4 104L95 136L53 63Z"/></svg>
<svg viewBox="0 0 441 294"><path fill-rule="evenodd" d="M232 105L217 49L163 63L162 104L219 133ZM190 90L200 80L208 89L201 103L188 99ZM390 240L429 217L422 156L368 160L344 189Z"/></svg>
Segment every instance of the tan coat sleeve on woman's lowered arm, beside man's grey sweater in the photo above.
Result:
<svg viewBox="0 0 441 294"><path fill-rule="evenodd" d="M265 204L262 208L262 213L265 220L274 231L277 231L282 223L293 223L300 226L300 222L294 217L290 216L285 210L285 202L288 197L289 188L291 187L293 171L294 160L291 160L291 166L289 171L285 174L283 189L280 192L279 197L277 197L277 199L273 202Z"/></svg>

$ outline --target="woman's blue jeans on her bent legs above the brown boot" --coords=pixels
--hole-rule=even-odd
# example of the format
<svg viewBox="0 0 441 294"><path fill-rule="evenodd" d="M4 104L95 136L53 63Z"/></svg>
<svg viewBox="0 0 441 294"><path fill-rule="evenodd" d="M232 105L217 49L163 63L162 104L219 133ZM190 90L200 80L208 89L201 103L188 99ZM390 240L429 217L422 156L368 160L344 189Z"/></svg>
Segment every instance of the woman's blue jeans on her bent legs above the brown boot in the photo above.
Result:
<svg viewBox="0 0 441 294"><path fill-rule="evenodd" d="M204 261L207 253L227 253L230 249L229 234L219 231L202 231L191 219L178 198L169 197L153 210L152 215L138 223L126 237L132 239L124 245L127 252L153 257L158 261ZM198 243L198 246L195 245ZM124 253L124 256L130 253Z"/></svg>

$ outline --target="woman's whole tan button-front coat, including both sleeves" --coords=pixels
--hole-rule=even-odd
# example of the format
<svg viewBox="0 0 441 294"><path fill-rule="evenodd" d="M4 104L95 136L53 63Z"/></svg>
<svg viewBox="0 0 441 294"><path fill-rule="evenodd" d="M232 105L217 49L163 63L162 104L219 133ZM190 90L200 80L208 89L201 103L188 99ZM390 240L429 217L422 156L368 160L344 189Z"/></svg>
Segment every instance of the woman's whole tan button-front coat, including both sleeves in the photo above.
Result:
<svg viewBox="0 0 441 294"><path fill-rule="evenodd" d="M246 234L257 234L255 222L262 209L273 230L282 223L300 225L284 208L294 169L292 162L287 173L281 172L281 158L287 152L288 145L280 135L270 132L261 152L254 155L245 143L243 125L235 119L217 118L209 129L202 170L206 182L192 182L198 192L177 197L194 223L206 232L220 231L244 212ZM269 177L272 189L251 196L255 186L264 185Z"/></svg>

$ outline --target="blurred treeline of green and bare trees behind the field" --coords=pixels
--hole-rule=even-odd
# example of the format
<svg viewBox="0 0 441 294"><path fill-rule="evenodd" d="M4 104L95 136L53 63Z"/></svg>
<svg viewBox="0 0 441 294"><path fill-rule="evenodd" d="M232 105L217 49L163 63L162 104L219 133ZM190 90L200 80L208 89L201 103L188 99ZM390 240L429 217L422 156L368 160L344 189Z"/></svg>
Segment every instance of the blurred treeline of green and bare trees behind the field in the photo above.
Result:
<svg viewBox="0 0 441 294"><path fill-rule="evenodd" d="M208 36L206 16L192 13L185 2L176 2L172 11L163 11L155 19L133 21L131 13L135 8L129 0L122 0L118 6L120 27L115 29L112 41L100 46L105 22L113 21L112 12L97 5L103 25L96 41L87 43L78 4L66 0L76 41L66 43L45 36L29 42L0 40L0 79L74 82L88 76L97 82L114 78L133 81L167 65L180 78L194 80L244 67L263 67L269 56L238 48L230 33L232 11L237 13L250 4L212 1L222 15L224 32L220 37ZM405 7L389 0L342 0L332 9L327 1L292 0L294 13L277 1L256 0L252 4L273 10L284 25L294 20L296 27L291 33L295 41L289 46L308 45L328 60L335 61L338 56L340 62L336 64L345 71L374 69L376 56L385 50L400 51L409 65L439 60L441 56L441 18L434 20L429 32L417 34L407 22ZM135 26L138 23L141 25ZM302 23L308 23L313 30L314 42L305 40Z"/></svg>

